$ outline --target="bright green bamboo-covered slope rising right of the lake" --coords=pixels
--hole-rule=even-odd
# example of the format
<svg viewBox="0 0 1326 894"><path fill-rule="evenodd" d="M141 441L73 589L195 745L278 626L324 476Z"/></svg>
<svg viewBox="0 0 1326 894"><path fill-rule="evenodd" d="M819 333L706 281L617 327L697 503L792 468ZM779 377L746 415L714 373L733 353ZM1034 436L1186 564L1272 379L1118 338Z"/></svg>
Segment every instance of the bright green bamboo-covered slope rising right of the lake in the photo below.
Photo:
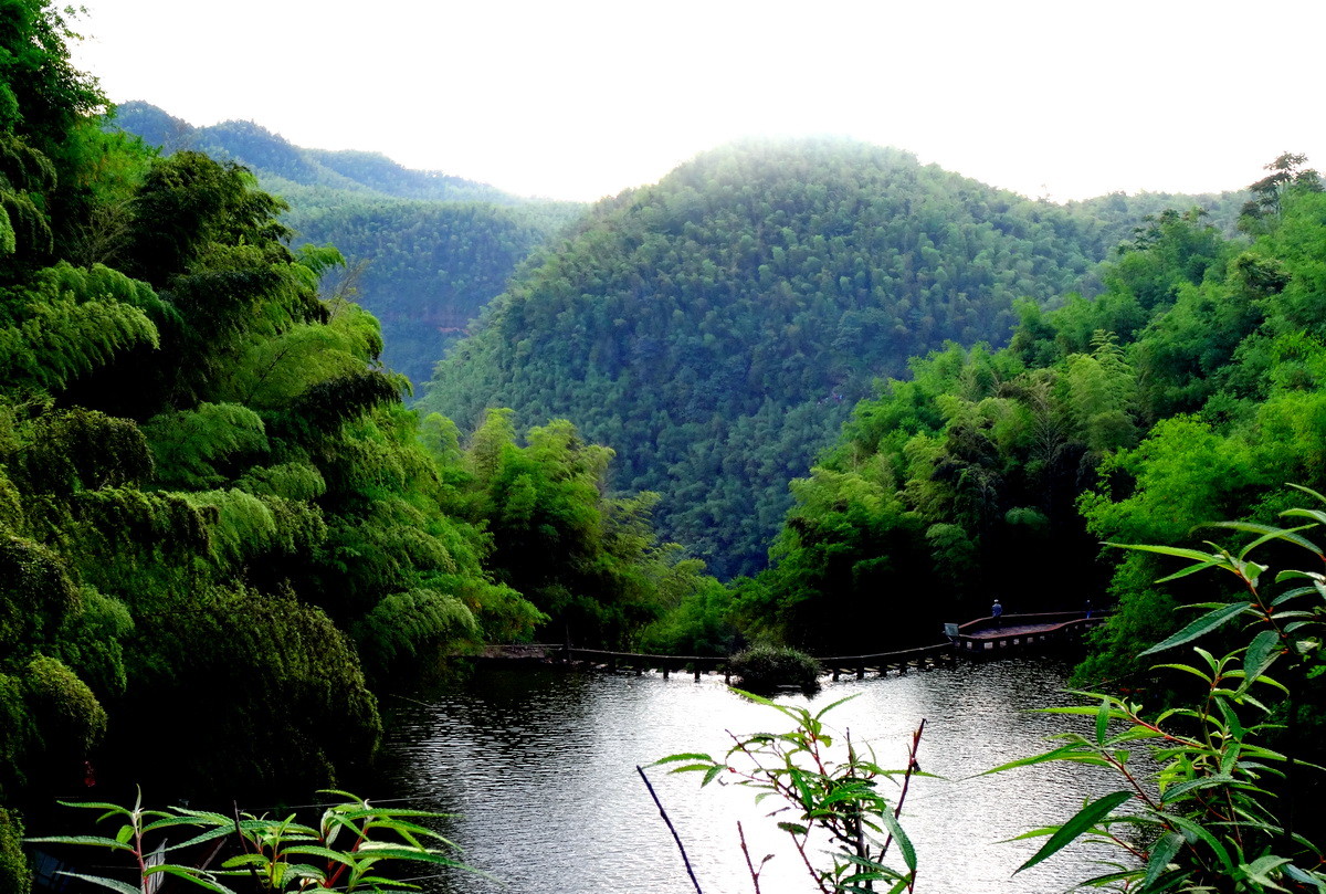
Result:
<svg viewBox="0 0 1326 894"><path fill-rule="evenodd" d="M989 611L1116 605L1083 676L1139 670L1176 607L1150 553L1101 541L1227 540L1326 488L1326 194L1285 155L1237 237L1193 211L1152 218L1094 300L1020 305L1004 350L951 346L861 402L809 478L774 565L739 615L809 649L895 642ZM1171 568L1172 570L1172 568ZM855 619L843 625L842 618ZM854 631L870 631L870 639Z"/></svg>

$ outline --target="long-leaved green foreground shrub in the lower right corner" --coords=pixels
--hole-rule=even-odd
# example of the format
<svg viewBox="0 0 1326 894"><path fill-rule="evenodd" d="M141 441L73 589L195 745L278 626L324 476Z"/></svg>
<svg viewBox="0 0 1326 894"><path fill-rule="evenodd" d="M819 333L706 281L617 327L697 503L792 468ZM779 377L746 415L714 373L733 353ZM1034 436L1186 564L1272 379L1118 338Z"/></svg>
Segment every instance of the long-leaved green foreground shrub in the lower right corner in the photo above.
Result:
<svg viewBox="0 0 1326 894"><path fill-rule="evenodd" d="M1099 861L1109 871L1083 879L1081 887L1261 894L1326 885L1326 858L1317 844L1321 812L1309 808L1321 798L1322 747L1303 728L1305 720L1319 723L1321 684L1313 680L1323 670L1326 552L1314 541L1326 521L1326 497L1298 491L1313 500L1309 508L1281 513L1302 523L1294 528L1211 525L1240 532L1245 543L1237 549L1209 541L1205 549L1131 546L1171 566L1174 557L1189 562L1158 584L1221 570L1237 589L1203 604L1204 614L1139 655L1168 659L1154 670L1180 678L1181 704L1143 710L1134 698L1079 692L1091 704L1049 711L1093 718L1094 735L1062 732L1052 751L991 771L1063 761L1103 771L1113 785L1122 785L1083 804L1063 825L1024 836L1044 834L1048 841L1017 871L1089 840L1120 860ZM1290 556L1296 565L1306 558L1310 570L1272 574L1262 564ZM1193 646L1196 641L1203 645ZM1221 641L1231 643L1229 651ZM1131 759L1138 745L1150 760Z"/></svg>

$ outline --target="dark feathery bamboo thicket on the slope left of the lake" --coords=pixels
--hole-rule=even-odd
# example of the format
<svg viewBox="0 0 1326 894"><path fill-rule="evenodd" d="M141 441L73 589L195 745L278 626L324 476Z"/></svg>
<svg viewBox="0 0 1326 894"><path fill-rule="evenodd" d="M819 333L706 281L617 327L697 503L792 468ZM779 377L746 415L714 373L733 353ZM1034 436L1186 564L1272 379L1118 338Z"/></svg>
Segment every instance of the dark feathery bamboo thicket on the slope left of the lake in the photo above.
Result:
<svg viewBox="0 0 1326 894"><path fill-rule="evenodd" d="M290 802L450 655L622 646L717 588L570 423L420 420L320 288L334 248L241 167L102 130L48 3L4 21L0 890L57 796Z"/></svg>

